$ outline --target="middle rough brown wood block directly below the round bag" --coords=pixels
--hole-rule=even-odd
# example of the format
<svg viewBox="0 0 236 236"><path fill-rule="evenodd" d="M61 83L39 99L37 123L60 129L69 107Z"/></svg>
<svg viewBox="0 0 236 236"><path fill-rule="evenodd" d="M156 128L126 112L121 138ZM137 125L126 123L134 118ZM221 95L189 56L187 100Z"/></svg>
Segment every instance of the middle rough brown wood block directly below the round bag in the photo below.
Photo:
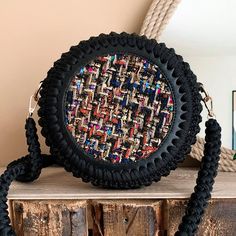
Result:
<svg viewBox="0 0 236 236"><path fill-rule="evenodd" d="M161 201L93 201L94 236L162 235Z"/></svg>

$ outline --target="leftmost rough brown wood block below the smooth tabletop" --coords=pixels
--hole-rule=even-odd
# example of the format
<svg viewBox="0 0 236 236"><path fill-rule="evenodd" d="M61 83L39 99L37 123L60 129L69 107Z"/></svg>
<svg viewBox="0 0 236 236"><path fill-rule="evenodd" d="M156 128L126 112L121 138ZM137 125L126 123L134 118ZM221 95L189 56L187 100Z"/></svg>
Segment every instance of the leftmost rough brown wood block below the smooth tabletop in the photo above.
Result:
<svg viewBox="0 0 236 236"><path fill-rule="evenodd" d="M14 200L13 226L18 236L87 236L87 202Z"/></svg>

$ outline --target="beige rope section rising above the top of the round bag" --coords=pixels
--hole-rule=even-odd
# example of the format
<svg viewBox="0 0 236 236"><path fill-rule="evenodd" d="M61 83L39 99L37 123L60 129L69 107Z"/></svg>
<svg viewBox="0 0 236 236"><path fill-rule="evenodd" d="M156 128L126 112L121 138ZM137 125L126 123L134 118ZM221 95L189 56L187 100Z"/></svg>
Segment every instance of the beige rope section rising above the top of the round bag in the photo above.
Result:
<svg viewBox="0 0 236 236"><path fill-rule="evenodd" d="M154 0L144 19L140 35L159 39L180 0Z"/></svg>

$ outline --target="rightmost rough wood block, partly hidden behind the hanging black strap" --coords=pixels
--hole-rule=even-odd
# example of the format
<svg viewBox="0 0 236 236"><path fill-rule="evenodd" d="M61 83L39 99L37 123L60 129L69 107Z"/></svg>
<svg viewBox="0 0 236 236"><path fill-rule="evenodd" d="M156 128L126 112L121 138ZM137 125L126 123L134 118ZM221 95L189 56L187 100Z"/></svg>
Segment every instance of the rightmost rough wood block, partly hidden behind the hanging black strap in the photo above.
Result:
<svg viewBox="0 0 236 236"><path fill-rule="evenodd" d="M184 214L186 200L167 200L167 235L172 236ZM236 199L211 200L202 219L198 236L236 235Z"/></svg>

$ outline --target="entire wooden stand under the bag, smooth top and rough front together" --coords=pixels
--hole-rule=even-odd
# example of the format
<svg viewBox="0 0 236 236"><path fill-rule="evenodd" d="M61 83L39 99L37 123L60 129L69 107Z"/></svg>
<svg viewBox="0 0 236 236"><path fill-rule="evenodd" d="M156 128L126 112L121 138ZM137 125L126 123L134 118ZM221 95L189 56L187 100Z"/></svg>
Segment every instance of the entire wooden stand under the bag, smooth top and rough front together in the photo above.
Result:
<svg viewBox="0 0 236 236"><path fill-rule="evenodd" d="M178 168L149 187L107 190L46 168L37 181L11 186L12 223L17 236L172 236L196 176L197 169ZM219 172L198 236L236 235L235 177Z"/></svg>

